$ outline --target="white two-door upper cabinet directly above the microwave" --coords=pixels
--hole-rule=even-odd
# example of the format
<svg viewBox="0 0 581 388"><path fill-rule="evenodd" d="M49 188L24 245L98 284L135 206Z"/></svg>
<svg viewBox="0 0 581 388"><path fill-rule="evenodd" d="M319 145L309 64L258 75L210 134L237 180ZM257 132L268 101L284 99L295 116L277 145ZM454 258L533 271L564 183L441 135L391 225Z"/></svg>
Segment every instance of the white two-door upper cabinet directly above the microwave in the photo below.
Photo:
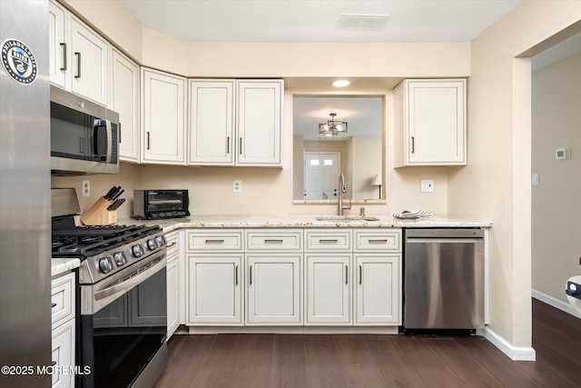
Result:
<svg viewBox="0 0 581 388"><path fill-rule="evenodd" d="M62 5L49 3L50 80L107 104L109 43Z"/></svg>

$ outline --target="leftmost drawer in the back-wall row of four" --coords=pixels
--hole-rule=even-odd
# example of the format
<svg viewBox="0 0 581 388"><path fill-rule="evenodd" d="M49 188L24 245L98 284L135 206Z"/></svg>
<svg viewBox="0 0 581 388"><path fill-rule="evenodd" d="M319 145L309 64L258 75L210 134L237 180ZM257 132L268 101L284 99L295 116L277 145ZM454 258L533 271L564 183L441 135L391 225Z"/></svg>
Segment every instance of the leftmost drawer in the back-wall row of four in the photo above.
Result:
<svg viewBox="0 0 581 388"><path fill-rule="evenodd" d="M242 230L186 232L188 252L231 251L241 252Z"/></svg>

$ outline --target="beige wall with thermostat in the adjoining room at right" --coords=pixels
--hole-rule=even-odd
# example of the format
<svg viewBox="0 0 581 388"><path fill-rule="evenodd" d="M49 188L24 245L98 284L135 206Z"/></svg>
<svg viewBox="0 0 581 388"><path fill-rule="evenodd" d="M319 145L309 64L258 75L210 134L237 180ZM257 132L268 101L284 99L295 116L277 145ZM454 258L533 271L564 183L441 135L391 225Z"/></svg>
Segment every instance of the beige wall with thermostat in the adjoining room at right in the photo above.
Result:
<svg viewBox="0 0 581 388"><path fill-rule="evenodd" d="M566 303L581 274L581 53L533 73L533 289ZM557 148L570 157L556 160Z"/></svg>

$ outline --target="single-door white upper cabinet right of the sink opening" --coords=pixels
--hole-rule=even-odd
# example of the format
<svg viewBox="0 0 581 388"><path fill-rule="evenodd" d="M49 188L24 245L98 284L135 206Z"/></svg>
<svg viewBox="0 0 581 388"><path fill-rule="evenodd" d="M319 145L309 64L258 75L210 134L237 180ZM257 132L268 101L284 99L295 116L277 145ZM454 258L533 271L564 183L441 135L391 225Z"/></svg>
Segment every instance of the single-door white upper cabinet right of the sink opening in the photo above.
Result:
<svg viewBox="0 0 581 388"><path fill-rule="evenodd" d="M466 79L404 80L394 89L394 165L465 165Z"/></svg>

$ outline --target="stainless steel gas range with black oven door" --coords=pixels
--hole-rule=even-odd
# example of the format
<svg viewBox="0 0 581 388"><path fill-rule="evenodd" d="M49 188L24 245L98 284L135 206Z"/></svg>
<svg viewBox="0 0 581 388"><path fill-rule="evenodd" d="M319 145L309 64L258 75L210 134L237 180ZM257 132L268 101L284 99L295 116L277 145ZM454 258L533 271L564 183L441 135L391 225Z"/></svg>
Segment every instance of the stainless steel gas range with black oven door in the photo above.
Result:
<svg viewBox="0 0 581 388"><path fill-rule="evenodd" d="M159 226L53 218L53 257L78 257L81 387L151 387L167 363L166 241Z"/></svg>

